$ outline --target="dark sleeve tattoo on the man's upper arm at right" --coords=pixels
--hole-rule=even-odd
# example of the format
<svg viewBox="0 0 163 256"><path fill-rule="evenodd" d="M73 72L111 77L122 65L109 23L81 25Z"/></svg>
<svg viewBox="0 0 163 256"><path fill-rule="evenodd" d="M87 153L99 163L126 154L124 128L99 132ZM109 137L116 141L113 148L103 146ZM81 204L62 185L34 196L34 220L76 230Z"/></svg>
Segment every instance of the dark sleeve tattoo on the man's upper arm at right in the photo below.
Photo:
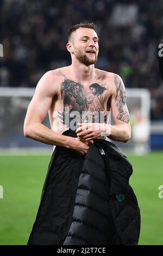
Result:
<svg viewBox="0 0 163 256"><path fill-rule="evenodd" d="M123 81L120 78L118 78L117 75L115 75L114 81L116 86L115 104L119 112L119 114L117 115L117 119L125 123L129 123L130 116L126 106L126 92Z"/></svg>

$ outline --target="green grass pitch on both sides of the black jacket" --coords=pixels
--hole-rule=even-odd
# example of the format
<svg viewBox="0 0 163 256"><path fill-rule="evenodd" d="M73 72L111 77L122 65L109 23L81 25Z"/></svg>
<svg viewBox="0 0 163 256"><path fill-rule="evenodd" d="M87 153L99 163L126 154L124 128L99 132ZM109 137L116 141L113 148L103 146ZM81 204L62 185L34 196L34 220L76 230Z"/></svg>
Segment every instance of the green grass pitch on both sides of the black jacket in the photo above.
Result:
<svg viewBox="0 0 163 256"><path fill-rule="evenodd" d="M139 245L163 245L163 152L127 153L133 164L130 185L141 210ZM0 155L0 245L26 245L40 203L51 155Z"/></svg>

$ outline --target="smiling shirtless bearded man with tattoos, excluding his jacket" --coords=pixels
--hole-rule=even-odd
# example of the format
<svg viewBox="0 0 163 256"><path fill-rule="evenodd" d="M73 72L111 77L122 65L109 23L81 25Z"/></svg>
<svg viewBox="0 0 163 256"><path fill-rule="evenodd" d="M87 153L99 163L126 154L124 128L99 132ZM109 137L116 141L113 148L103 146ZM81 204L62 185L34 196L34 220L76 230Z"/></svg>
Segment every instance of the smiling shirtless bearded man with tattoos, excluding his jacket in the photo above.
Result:
<svg viewBox="0 0 163 256"><path fill-rule="evenodd" d="M95 25L80 23L71 27L66 47L72 64L48 71L41 77L28 106L24 136L54 147L70 148L82 155L87 153L89 143L101 138L102 133L115 141L127 142L131 130L124 84L120 76L95 68L99 50ZM96 93L101 87L100 93ZM59 119L56 113L64 113L65 106L80 113L93 108L104 112L111 109L115 124L101 123L99 129L95 129L92 123L79 123L78 137L62 135L63 131L55 125ZM42 124L47 113L51 129Z"/></svg>

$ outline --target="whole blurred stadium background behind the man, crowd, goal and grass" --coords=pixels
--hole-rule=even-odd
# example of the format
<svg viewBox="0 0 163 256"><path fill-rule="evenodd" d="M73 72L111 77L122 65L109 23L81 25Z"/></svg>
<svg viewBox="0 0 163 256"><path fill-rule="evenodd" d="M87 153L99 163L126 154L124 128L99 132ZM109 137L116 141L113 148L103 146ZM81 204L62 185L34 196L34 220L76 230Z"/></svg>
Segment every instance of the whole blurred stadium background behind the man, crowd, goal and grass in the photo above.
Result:
<svg viewBox="0 0 163 256"><path fill-rule="evenodd" d="M0 0L0 245L25 245L35 220L52 147L23 136L35 86L70 65L68 29L93 21L96 68L120 75L131 116L130 142L115 143L133 164L140 245L163 245L163 84L158 68L163 2L147 0ZM0 54L2 56L2 54ZM48 117L43 122L49 126Z"/></svg>

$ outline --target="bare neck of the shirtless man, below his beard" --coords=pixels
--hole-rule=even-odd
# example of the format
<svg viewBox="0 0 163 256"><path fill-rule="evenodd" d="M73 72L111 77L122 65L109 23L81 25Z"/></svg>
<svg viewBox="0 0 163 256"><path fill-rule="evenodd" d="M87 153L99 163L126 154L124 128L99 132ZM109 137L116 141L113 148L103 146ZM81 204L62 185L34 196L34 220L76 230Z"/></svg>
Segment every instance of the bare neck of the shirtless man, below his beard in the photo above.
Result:
<svg viewBox="0 0 163 256"><path fill-rule="evenodd" d="M83 63L72 63L70 70L76 81L86 82L91 81L96 77L94 64L86 66Z"/></svg>

